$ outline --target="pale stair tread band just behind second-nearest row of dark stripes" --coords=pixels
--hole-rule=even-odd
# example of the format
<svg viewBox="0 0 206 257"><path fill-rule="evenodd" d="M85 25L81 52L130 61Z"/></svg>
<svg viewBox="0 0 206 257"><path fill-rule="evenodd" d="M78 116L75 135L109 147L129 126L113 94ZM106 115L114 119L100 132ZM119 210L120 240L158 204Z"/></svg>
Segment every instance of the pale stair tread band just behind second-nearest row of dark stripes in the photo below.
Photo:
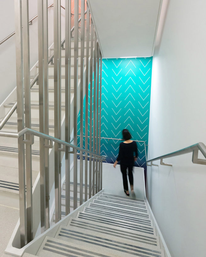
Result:
<svg viewBox="0 0 206 257"><path fill-rule="evenodd" d="M55 238L59 238L58 235L59 233L63 233L64 232L69 232L69 231L75 231L78 233L82 233L82 234L89 234L92 236L97 236L101 237L101 238L105 238L106 240L111 240L113 242L117 242L120 244L127 244L130 246L137 246L137 247L142 247L142 248L148 248L151 250L156 250L156 251L161 251L159 248L159 245L157 245L157 242L155 242L154 240L148 240L147 243L145 241L145 239L142 240L142 238L139 236L138 238L134 238L132 236L129 235L125 235L124 232L122 231L118 231L118 233L112 233L111 231L108 231L107 229L104 228L98 228L95 226L85 226L85 224L81 224L79 222L75 222L74 220L71 220L69 226L60 226Z"/></svg>

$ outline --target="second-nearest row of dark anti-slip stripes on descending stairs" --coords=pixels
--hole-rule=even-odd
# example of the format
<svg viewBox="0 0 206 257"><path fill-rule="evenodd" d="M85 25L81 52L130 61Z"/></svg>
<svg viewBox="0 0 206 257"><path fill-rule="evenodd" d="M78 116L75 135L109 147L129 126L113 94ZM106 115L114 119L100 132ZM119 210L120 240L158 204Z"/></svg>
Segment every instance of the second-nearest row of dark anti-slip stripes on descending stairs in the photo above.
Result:
<svg viewBox="0 0 206 257"><path fill-rule="evenodd" d="M93 241L91 242L91 241L88 241L90 238L86 238L86 237L83 237L83 236L80 236L80 235L78 235L78 238L75 238L75 235L69 234L69 233L66 233L66 232L64 232L63 234L59 233L58 235L66 237L66 238L71 238L71 239L74 239L74 240L86 242L86 243L89 243L89 244L96 244L96 245L99 245L99 246L102 246L102 247L107 247L107 248L114 249L114 250L117 250L117 251L126 252L128 254L133 254L133 255L135 254L136 256L144 257L146 255L142 255L142 254L147 254L147 255L151 255L151 256L155 256L155 257L161 257L161 255L159 255L159 254L148 253L148 252L145 252L145 251L142 251L142 250L139 250L139 249L131 249L131 248L126 247L126 246L119 246L119 245L117 246L117 245L115 245L113 243L101 242L98 239L93 239ZM90 240L92 240L92 239L90 239ZM105 245L105 244L107 244L107 245ZM114 246L119 247L119 248L114 248ZM130 250L130 252L128 250ZM148 251L150 251L150 250L148 249ZM161 254L161 252L160 252L160 254Z"/></svg>

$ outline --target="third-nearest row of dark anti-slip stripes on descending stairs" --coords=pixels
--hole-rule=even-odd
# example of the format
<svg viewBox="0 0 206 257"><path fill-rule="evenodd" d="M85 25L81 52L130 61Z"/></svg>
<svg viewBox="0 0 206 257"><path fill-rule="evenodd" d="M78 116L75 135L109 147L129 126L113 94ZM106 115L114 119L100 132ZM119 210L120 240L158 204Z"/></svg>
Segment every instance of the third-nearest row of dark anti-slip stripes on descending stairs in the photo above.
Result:
<svg viewBox="0 0 206 257"><path fill-rule="evenodd" d="M73 226L75 228L87 229L89 231L94 231L94 232L98 232L98 233L102 233L102 231L103 231L103 233L106 234L106 235L111 235L111 236L115 236L115 237L118 237L118 238L124 238L124 239L127 239L127 240L133 240L133 241L136 241L136 242L139 242L139 243L151 244L151 245L157 246L157 241L155 243L154 241L150 242L151 240L146 240L144 238L139 238L139 237L134 238L134 236L133 237L132 236L131 237L122 236L122 235L125 235L125 233L122 233L122 235L121 235L120 232L115 232L115 231L111 232L107 229L101 229L101 231L99 231L98 228L93 227L93 226L85 226L86 227L85 228L83 225L75 224L74 222L71 222L70 226Z"/></svg>

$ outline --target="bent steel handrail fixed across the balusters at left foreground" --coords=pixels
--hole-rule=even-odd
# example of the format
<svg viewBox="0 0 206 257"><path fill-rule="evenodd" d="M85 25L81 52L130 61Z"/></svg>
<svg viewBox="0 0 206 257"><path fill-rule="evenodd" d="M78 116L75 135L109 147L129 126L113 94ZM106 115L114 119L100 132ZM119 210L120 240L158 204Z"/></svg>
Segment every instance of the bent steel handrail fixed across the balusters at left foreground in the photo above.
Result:
<svg viewBox="0 0 206 257"><path fill-rule="evenodd" d="M63 140L60 140L58 138L46 135L44 133L41 133L41 132L33 130L33 129L24 128L23 130L21 130L19 132L0 131L0 137L19 138L19 137L22 137L25 134L31 134L31 135L36 136L36 137L42 137L44 139L47 139L47 140L50 141L50 145L51 145L51 142L57 142L58 144L65 145L67 147L71 147L71 148L74 148L76 150L80 150L80 151L85 152L85 153L90 153L91 154L90 157L94 158L94 159L98 159L98 160L104 160L105 159L105 156L103 156L103 155L100 155L100 154L91 152L89 150L86 150L84 148L72 145L71 143L65 142ZM32 142L32 140L31 140L31 142Z"/></svg>

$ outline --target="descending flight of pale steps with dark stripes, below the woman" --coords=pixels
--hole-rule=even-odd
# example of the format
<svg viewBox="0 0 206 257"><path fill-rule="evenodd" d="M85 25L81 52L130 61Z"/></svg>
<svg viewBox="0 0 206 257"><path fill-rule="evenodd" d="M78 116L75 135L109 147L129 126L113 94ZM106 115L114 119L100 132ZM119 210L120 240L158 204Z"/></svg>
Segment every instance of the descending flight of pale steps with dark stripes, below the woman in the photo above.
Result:
<svg viewBox="0 0 206 257"><path fill-rule="evenodd" d="M102 193L36 255L166 257L161 246L144 200Z"/></svg>

